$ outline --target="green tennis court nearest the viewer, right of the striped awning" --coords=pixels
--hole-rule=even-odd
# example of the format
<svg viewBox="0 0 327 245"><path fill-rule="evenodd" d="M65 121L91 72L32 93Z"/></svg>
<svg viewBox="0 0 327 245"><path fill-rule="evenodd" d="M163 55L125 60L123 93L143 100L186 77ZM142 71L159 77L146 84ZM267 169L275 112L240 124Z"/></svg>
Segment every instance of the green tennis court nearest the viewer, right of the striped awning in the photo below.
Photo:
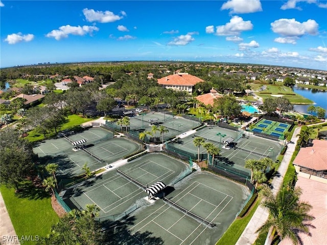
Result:
<svg viewBox="0 0 327 245"><path fill-rule="evenodd" d="M206 219L214 227L159 199L154 205L132 213L129 235L133 244L148 244L139 234L151 233L160 244L215 244L242 209L249 191L211 173L198 172L173 186L166 198ZM164 190L165 191L165 190ZM121 235L121 234L120 234ZM144 240L143 240L144 239Z"/></svg>

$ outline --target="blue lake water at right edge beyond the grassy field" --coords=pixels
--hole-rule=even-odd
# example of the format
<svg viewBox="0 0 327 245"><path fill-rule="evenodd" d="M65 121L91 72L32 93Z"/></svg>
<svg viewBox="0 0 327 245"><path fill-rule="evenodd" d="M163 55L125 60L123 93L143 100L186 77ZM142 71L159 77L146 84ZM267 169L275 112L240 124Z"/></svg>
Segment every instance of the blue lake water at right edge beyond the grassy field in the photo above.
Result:
<svg viewBox="0 0 327 245"><path fill-rule="evenodd" d="M293 87L293 91L296 94L302 95L303 97L306 97L312 101L315 102L314 106L322 107L327 112L327 91L321 91L316 90L314 88L306 88L306 87ZM294 110L296 110L299 113L308 113L308 107L310 105L294 105ZM313 115L316 115L313 113ZM327 116L327 113L326 113Z"/></svg>

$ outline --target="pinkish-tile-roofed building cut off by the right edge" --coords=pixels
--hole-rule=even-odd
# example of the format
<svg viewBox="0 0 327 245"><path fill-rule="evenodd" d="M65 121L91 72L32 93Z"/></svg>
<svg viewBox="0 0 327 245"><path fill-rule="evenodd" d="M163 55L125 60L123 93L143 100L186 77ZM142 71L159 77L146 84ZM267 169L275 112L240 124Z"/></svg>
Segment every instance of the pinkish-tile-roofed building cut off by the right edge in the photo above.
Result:
<svg viewBox="0 0 327 245"><path fill-rule="evenodd" d="M293 161L295 171L308 179L327 179L327 141L313 140L312 143L313 146L300 148Z"/></svg>

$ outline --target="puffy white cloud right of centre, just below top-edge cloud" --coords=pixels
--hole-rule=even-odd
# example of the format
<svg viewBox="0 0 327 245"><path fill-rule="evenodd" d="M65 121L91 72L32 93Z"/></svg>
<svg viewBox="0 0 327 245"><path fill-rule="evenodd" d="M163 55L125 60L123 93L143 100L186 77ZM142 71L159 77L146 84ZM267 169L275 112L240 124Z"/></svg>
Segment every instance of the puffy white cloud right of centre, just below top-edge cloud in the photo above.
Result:
<svg viewBox="0 0 327 245"><path fill-rule="evenodd" d="M250 20L244 21L242 17L233 16L224 26L218 26L216 34L219 36L239 35L242 31L252 30L253 25Z"/></svg>

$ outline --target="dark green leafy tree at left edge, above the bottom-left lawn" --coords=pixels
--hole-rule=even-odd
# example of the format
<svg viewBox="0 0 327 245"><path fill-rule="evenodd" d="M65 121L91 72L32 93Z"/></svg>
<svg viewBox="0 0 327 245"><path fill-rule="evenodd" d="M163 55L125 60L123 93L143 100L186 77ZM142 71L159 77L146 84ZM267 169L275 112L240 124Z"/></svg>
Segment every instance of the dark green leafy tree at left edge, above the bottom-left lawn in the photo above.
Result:
<svg viewBox="0 0 327 245"><path fill-rule="evenodd" d="M0 133L0 183L19 189L19 183L33 169L32 146L10 129Z"/></svg>

